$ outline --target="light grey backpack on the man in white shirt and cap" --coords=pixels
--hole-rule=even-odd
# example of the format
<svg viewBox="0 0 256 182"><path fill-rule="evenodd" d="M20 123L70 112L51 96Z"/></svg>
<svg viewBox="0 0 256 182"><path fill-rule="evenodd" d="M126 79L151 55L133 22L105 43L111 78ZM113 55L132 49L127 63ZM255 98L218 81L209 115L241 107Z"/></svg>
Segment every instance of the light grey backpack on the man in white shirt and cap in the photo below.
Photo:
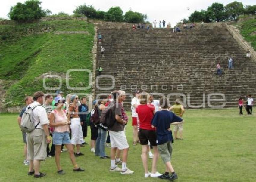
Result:
<svg viewBox="0 0 256 182"><path fill-rule="evenodd" d="M36 105L33 107L28 106L25 110L25 112L22 115L21 118L21 124L20 124L20 128L21 131L26 132L26 133L30 133L31 131L33 131L38 125L39 123L37 123L36 126L34 126L34 122L32 121L32 113L33 110L37 107L37 106L41 106L41 105ZM41 106L43 107L43 106Z"/></svg>

